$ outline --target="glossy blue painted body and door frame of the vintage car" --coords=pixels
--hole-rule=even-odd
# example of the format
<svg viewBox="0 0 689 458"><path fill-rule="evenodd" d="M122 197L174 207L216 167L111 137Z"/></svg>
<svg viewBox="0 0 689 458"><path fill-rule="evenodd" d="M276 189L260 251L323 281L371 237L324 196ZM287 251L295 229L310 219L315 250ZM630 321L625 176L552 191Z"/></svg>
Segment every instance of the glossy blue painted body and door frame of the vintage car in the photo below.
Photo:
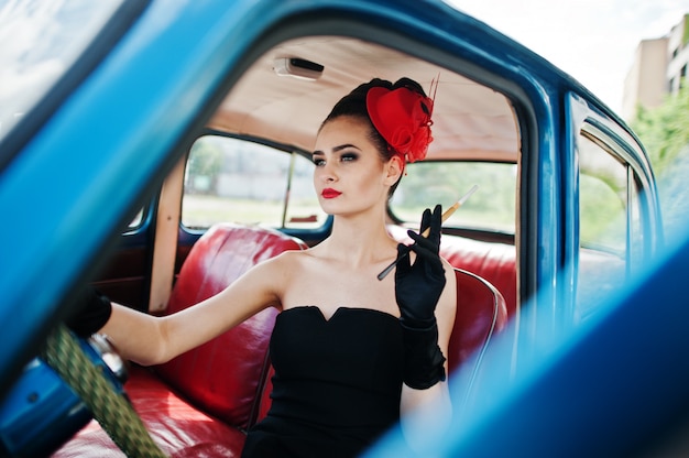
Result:
<svg viewBox="0 0 689 458"><path fill-rule="evenodd" d="M603 314L569 325L579 243L570 121L587 117L609 135L634 143L625 124L576 80L436 1L155 0L124 2L118 14L125 26L101 36L80 73L61 80L64 90L0 143L3 395L55 319L69 312L66 298L112 244L114 228L129 221L176 163L175 145L204 124L214 97L252 56L278 34L367 36L379 26L466 59L479 78L501 75L491 76L492 85L513 101L535 152L524 163L529 219L522 225L532 243L520 261L520 286L529 298L522 326L538 332L517 336L532 357L518 361L515 383L501 386L503 375L490 371L511 353L515 336L506 332L486 355L484 382L472 402L455 406L449 429L429 426L433 440L423 441L424 450L614 456L648 446L686 418L689 317L680 285L689 272L689 244L659 254L655 177L638 148L628 154L648 192L653 220L646 243L655 260L609 299ZM365 26L358 31L357 24ZM401 435L393 430L371 456L408 454Z"/></svg>

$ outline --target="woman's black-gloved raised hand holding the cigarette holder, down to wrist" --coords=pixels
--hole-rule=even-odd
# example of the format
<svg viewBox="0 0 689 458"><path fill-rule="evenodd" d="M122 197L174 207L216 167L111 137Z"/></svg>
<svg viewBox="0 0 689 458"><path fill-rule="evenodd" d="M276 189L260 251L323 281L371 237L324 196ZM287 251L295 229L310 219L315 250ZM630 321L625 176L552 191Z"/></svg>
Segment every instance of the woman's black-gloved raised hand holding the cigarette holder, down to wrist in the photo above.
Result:
<svg viewBox="0 0 689 458"><path fill-rule="evenodd" d="M445 288L445 269L440 260L440 228L442 211L439 205L427 208L422 216L419 233L408 231L412 246L397 246L400 262L395 271L395 298L400 306L402 324L409 328L426 329L436 321L435 309ZM423 232L429 229L428 237ZM408 251L416 253L412 265Z"/></svg>

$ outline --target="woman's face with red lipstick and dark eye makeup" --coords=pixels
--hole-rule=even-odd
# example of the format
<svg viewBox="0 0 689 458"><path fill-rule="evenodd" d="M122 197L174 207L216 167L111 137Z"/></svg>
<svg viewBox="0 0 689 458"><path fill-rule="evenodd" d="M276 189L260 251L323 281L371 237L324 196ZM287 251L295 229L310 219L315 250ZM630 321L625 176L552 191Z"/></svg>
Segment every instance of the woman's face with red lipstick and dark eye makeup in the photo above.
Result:
<svg viewBox="0 0 689 458"><path fill-rule="evenodd" d="M363 211L385 205L390 187L400 177L397 160L383 162L369 139L370 126L358 118L339 117L318 133L314 151L314 187L330 215Z"/></svg>

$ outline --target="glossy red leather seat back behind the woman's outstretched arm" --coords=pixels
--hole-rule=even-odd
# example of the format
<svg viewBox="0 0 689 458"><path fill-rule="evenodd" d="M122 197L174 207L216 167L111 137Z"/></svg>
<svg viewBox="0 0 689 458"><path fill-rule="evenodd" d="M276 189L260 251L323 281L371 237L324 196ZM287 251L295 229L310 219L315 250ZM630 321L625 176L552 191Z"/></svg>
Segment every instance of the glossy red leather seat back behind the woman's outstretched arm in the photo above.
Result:
<svg viewBox="0 0 689 458"><path fill-rule="evenodd" d="M193 247L173 288L172 314L218 294L259 262L307 248L278 231L230 223L211 227ZM231 307L228 304L228 307ZM258 415L277 312L267 308L155 372L197 408L239 428Z"/></svg>

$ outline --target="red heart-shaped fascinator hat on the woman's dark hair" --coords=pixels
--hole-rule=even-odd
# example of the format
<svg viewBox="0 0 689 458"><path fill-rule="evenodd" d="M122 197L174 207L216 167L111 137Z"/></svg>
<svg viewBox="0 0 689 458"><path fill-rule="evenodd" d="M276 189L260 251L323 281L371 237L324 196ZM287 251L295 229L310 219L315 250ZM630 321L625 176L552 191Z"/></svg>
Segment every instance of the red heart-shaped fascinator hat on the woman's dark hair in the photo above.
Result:
<svg viewBox="0 0 689 458"><path fill-rule="evenodd" d="M375 129L403 159L426 157L433 141L433 99L407 87L373 87L367 94L367 110Z"/></svg>

